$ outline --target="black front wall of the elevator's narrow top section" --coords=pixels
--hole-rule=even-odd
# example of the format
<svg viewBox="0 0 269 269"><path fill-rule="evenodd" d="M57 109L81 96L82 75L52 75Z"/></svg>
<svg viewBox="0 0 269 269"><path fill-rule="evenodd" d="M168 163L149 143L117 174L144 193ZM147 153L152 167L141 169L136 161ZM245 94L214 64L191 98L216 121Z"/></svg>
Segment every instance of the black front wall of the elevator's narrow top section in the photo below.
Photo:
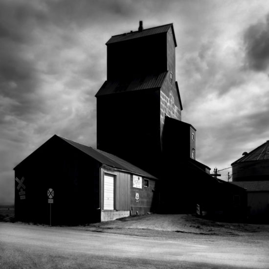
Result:
<svg viewBox="0 0 269 269"><path fill-rule="evenodd" d="M107 55L108 80L167 71L166 33L109 44Z"/></svg>

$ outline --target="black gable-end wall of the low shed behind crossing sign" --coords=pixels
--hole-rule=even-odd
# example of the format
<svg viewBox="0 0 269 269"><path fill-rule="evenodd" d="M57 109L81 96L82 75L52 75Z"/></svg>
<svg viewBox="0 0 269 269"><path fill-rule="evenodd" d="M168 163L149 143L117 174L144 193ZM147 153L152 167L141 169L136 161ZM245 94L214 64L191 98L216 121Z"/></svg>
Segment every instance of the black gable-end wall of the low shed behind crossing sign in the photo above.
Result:
<svg viewBox="0 0 269 269"><path fill-rule="evenodd" d="M16 220L49 224L47 190L52 188L52 225L99 221L99 166L59 137L52 137L15 169L15 178L25 178L26 198L20 200L15 181Z"/></svg>

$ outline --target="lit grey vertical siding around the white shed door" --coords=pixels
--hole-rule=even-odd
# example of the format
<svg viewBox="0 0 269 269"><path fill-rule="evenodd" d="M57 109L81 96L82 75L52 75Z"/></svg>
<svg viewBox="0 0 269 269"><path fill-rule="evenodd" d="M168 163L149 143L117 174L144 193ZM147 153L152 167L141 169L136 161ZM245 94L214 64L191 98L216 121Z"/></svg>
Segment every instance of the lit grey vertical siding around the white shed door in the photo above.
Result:
<svg viewBox="0 0 269 269"><path fill-rule="evenodd" d="M104 175L114 176L114 209L130 210L130 174L108 167L101 168L101 209L104 209Z"/></svg>

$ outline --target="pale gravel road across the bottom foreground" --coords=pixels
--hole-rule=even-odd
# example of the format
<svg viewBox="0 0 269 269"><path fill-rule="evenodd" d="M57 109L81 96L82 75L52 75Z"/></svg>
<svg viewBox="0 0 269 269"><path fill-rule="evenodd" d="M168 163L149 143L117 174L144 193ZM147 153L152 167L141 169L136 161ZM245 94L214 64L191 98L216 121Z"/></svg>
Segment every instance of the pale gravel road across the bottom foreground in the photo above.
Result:
<svg viewBox="0 0 269 269"><path fill-rule="evenodd" d="M268 236L174 234L0 223L0 268L269 268Z"/></svg>

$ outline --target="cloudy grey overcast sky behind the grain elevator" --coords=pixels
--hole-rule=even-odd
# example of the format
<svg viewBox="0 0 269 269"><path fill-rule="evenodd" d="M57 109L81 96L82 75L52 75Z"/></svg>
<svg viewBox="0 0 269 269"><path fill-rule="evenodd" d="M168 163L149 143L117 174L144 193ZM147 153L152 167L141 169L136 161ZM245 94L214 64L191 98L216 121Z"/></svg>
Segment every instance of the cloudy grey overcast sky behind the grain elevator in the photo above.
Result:
<svg viewBox="0 0 269 269"><path fill-rule="evenodd" d="M198 161L224 169L269 139L269 1L0 0L0 204L14 201L13 168L53 134L96 146L105 43L139 20L174 23Z"/></svg>

